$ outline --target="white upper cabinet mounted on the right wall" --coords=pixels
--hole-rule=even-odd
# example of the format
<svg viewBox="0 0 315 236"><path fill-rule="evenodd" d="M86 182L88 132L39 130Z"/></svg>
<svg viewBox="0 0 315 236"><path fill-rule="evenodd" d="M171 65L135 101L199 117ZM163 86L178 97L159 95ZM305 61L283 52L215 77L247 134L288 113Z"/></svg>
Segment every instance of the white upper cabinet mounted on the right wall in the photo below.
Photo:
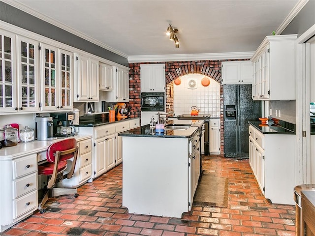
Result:
<svg viewBox="0 0 315 236"><path fill-rule="evenodd" d="M260 44L251 59L254 100L295 100L296 38L296 34L266 36Z"/></svg>

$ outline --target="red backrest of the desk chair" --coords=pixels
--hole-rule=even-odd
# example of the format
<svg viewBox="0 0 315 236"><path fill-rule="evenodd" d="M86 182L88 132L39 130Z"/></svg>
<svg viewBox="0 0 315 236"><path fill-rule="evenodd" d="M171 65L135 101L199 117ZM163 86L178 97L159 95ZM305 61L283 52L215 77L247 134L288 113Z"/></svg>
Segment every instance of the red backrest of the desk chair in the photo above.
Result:
<svg viewBox="0 0 315 236"><path fill-rule="evenodd" d="M48 162L55 162L55 157L56 157L56 151L63 152L65 150L71 150L72 148L77 147L77 141L74 138L71 139L63 139L61 141L55 142L51 144L48 149L47 149L47 161ZM68 159L71 159L74 157L75 153L74 152L64 152L61 153L59 161L65 161Z"/></svg>

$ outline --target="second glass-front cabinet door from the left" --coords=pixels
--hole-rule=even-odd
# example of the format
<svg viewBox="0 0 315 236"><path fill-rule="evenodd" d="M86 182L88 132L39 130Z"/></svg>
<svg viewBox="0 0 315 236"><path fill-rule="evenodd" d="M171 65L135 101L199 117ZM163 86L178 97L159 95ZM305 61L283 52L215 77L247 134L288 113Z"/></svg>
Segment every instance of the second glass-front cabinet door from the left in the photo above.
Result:
<svg viewBox="0 0 315 236"><path fill-rule="evenodd" d="M18 50L18 104L19 112L39 110L39 54L38 42L17 37Z"/></svg>

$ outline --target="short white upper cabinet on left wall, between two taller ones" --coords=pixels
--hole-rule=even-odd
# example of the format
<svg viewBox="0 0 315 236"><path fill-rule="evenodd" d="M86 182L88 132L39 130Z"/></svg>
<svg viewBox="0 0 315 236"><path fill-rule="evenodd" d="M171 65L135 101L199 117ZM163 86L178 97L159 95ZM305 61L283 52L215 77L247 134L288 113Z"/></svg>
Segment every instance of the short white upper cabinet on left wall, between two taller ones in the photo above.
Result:
<svg viewBox="0 0 315 236"><path fill-rule="evenodd" d="M99 90L113 91L114 67L99 62Z"/></svg>

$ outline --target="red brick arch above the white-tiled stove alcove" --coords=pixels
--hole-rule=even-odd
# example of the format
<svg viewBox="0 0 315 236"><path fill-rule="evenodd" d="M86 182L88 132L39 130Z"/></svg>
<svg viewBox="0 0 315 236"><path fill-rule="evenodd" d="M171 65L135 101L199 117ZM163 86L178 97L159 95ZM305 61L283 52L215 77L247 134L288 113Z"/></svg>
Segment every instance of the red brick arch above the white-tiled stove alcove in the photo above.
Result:
<svg viewBox="0 0 315 236"><path fill-rule="evenodd" d="M166 69L168 69L167 66ZM175 79L188 74L202 74L214 79L218 83L221 83L221 72L219 70L216 70L213 66L210 67L204 64L189 64L179 65L178 67L169 69L171 70L166 71L165 75L166 84L169 84Z"/></svg>

